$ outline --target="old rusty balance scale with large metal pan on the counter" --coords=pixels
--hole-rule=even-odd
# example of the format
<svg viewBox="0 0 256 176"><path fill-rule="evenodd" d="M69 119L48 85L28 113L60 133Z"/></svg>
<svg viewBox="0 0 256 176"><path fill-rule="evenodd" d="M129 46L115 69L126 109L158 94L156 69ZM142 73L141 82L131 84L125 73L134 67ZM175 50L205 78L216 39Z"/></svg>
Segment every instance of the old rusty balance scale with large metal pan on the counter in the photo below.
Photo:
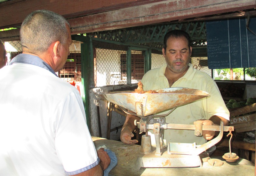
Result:
<svg viewBox="0 0 256 176"><path fill-rule="evenodd" d="M145 132L146 135L141 138L141 149L136 163L137 168L202 167L202 162L206 161L209 164L212 163L212 165L217 164L217 161L209 162L210 157L206 150L220 142L224 131L229 131L228 135L231 135L231 140L231 132L234 131L234 127L224 126L222 121L220 126L202 125L202 123L198 122L195 122L194 125L165 123L165 117L175 110L177 106L205 98L209 96L209 93L184 87L155 91L158 93L139 94L132 93L132 91L121 91L99 95L101 98L120 106L125 113L140 117L140 121L134 121L134 125L138 126L140 132ZM155 115L168 109L170 111L167 114ZM156 148L151 145L151 138L148 135L149 129L153 130L155 135ZM196 146L196 143L168 143L166 149L163 147L165 129L194 130L196 136L202 136L203 130L219 131L220 133L214 139L200 146ZM235 153L231 153L230 140L230 151L223 158L233 162L239 157Z"/></svg>

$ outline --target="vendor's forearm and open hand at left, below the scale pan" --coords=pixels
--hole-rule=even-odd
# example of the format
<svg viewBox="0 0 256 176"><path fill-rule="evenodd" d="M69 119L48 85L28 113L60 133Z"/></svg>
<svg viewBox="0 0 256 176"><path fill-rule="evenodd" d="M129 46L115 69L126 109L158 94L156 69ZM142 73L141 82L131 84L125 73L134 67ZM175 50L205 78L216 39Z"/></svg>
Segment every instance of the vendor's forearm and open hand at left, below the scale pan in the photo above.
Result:
<svg viewBox="0 0 256 176"><path fill-rule="evenodd" d="M132 131L134 131L136 129L136 126L134 125L134 120L140 120L139 117L131 115L131 114L127 114L126 115L126 119L121 131L121 135L120 135L120 139L124 144L134 144L134 143L138 143L138 141L136 139L131 140L132 137L134 136L132 134Z"/></svg>

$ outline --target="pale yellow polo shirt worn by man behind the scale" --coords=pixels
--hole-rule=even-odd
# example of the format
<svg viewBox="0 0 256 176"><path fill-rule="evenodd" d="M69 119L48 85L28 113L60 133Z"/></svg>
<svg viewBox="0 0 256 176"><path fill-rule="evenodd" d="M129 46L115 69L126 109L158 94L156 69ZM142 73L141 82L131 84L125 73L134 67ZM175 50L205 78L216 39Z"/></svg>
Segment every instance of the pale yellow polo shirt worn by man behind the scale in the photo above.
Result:
<svg viewBox="0 0 256 176"><path fill-rule="evenodd" d="M143 90L156 90L170 88L164 76L166 64L160 68L149 70L141 79ZM206 73L196 70L189 63L187 73L177 80L172 87L187 87L208 92L210 96L196 100L192 103L177 107L165 120L166 123L193 124L200 119L209 119L212 115L221 116L229 120L229 111L223 101L215 81ZM159 113L166 114L168 111ZM151 139L152 141L152 139ZM154 142L154 139L153 141ZM194 130L164 130L164 143L196 143L201 145L206 142L204 137L194 135Z"/></svg>

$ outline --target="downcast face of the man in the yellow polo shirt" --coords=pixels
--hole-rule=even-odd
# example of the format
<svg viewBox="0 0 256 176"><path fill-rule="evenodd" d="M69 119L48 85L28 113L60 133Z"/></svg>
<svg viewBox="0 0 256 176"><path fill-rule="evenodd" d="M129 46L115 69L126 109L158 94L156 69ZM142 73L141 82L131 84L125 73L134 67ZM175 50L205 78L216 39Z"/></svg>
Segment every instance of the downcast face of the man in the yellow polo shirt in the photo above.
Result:
<svg viewBox="0 0 256 176"><path fill-rule="evenodd" d="M170 37L167 42L166 50L163 48L163 55L167 67L173 73L182 73L188 68L192 48L188 47L188 40L185 37Z"/></svg>

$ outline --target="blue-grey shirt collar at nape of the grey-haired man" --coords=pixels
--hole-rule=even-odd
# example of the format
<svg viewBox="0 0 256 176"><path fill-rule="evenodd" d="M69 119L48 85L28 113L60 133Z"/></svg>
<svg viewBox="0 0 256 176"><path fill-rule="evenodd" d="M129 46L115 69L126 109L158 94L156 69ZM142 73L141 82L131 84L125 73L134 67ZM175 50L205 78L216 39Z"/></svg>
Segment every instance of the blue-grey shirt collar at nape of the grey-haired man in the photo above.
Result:
<svg viewBox="0 0 256 176"><path fill-rule="evenodd" d="M30 54L19 54L15 56L12 61L10 62L10 65L14 63L25 63L25 64L31 64L36 65L38 67L44 68L50 72L52 72L55 76L58 77L58 75L54 72L52 67L48 65L46 62L44 62L40 57Z"/></svg>

